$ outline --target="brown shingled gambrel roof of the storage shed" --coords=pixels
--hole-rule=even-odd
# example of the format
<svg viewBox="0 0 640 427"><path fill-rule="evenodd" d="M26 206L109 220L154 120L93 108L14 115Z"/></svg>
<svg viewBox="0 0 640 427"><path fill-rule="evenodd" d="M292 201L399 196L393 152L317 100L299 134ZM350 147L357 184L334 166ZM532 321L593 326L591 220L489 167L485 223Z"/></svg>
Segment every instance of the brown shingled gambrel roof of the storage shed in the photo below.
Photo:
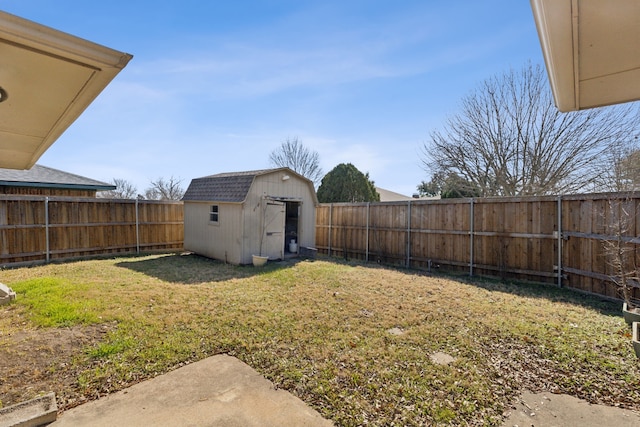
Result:
<svg viewBox="0 0 640 427"><path fill-rule="evenodd" d="M187 188L187 191L182 197L182 200L195 202L215 201L242 203L249 193L249 189L251 188L251 184L253 184L253 180L257 176L281 171L289 175L295 175L300 179L308 181L311 188L313 188L313 183L311 182L311 180L303 177L302 175L292 171L289 168L260 169L244 172L226 172L192 179L191 183L189 184L189 188ZM315 197L315 191L313 192L313 194Z"/></svg>

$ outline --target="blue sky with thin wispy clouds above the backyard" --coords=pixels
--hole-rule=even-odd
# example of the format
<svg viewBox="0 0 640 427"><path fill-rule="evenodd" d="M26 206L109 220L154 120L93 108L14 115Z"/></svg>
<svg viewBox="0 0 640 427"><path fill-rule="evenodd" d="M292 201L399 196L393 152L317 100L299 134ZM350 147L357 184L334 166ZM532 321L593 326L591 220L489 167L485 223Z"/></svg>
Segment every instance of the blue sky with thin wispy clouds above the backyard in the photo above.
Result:
<svg viewBox="0 0 640 427"><path fill-rule="evenodd" d="M411 195L421 146L484 79L543 63L527 0L0 0L134 55L38 163L142 193L269 167L298 137Z"/></svg>

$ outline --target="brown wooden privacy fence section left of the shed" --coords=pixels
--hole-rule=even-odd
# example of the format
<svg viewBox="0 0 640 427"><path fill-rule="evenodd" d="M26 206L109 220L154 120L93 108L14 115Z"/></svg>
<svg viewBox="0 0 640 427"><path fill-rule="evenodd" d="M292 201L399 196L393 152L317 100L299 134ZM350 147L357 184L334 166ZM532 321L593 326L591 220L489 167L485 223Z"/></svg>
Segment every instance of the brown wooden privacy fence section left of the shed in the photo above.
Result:
<svg viewBox="0 0 640 427"><path fill-rule="evenodd" d="M0 196L0 265L179 250L182 202Z"/></svg>

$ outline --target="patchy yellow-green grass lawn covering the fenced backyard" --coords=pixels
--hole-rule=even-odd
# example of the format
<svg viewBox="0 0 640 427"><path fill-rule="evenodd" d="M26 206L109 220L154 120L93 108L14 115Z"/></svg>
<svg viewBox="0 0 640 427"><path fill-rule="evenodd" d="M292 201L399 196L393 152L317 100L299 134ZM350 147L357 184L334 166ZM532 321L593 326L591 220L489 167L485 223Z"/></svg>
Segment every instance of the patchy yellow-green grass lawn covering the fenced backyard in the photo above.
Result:
<svg viewBox="0 0 640 427"><path fill-rule="evenodd" d="M18 295L0 307L0 405L54 391L69 408L228 353L337 425L499 425L524 389L640 408L621 303L553 287L178 254L0 282Z"/></svg>

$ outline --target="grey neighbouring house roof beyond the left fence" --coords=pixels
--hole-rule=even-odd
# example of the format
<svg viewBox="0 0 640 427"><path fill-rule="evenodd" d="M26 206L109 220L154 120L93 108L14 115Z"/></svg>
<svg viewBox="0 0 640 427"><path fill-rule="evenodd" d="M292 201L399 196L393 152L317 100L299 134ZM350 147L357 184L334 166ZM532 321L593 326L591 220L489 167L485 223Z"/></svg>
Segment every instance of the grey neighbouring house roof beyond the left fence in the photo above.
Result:
<svg viewBox="0 0 640 427"><path fill-rule="evenodd" d="M116 186L41 165L28 170L0 169L0 186L115 190Z"/></svg>

